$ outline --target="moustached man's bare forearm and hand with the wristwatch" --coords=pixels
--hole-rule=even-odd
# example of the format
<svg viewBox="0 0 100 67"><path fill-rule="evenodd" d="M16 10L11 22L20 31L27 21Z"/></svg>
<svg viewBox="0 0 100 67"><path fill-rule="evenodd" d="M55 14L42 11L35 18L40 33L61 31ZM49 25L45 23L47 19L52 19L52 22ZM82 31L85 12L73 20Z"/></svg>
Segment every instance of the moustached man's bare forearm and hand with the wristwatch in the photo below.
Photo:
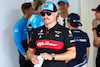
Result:
<svg viewBox="0 0 100 67"><path fill-rule="evenodd" d="M70 47L67 49L68 51L61 53L61 54L55 54L54 60L60 60L60 61L65 61L65 60L71 60L76 57L76 48L75 47ZM45 60L52 60L51 54L48 53L41 53L40 54Z"/></svg>

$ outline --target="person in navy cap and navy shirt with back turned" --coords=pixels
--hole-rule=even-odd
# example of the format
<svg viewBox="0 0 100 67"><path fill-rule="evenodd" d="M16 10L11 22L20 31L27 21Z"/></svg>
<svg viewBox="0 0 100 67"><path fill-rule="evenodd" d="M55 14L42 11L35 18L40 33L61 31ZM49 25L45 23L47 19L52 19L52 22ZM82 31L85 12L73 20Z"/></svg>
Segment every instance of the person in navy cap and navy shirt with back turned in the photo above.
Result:
<svg viewBox="0 0 100 67"><path fill-rule="evenodd" d="M90 42L87 33L78 29L78 26L82 26L80 23L80 17L76 13L68 15L68 27L73 34L73 38L76 44L76 58L69 61L66 67L87 67L87 60L89 57Z"/></svg>

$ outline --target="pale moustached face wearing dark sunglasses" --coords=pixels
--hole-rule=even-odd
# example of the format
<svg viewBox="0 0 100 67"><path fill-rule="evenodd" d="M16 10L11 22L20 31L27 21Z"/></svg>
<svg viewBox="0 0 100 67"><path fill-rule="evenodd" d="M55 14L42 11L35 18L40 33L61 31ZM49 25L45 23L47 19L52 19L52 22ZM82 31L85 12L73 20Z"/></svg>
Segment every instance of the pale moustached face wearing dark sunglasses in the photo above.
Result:
<svg viewBox="0 0 100 67"><path fill-rule="evenodd" d="M56 20L55 12L43 11L40 14L46 25L53 23Z"/></svg>

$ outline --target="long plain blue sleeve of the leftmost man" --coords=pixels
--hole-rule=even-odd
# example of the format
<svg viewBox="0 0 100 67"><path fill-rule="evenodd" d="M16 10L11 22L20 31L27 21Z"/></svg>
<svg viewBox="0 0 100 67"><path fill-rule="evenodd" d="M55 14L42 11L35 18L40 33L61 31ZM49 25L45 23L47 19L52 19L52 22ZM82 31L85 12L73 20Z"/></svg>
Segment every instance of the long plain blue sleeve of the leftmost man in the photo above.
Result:
<svg viewBox="0 0 100 67"><path fill-rule="evenodd" d="M20 53L25 52L24 47L21 44L22 41L22 28L20 25L15 24L14 27L14 41Z"/></svg>

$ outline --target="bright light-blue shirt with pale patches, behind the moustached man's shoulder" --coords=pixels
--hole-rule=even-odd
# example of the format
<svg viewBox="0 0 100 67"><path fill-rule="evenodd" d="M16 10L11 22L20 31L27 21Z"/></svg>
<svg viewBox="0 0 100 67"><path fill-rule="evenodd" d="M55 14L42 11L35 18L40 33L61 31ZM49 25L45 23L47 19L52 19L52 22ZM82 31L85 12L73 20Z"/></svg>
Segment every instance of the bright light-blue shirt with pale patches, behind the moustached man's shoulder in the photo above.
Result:
<svg viewBox="0 0 100 67"><path fill-rule="evenodd" d="M27 22L27 29L28 29L28 34L29 37L31 35L31 32L33 31L34 28L38 28L40 26L43 26L44 22L42 20L42 17L38 14L33 14Z"/></svg>

